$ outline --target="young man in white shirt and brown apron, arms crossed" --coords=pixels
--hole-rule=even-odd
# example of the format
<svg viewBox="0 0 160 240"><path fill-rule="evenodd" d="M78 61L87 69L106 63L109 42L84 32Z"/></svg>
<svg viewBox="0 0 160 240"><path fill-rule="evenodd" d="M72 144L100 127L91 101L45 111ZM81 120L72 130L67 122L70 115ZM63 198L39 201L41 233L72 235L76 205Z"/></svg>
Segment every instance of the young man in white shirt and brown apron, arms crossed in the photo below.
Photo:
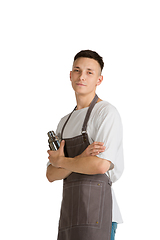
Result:
<svg viewBox="0 0 160 240"><path fill-rule="evenodd" d="M48 151L47 179L64 179L58 240L114 240L121 214L111 185L123 172L118 111L96 95L104 63L84 50L74 58L70 80L77 106L61 119L57 151Z"/></svg>

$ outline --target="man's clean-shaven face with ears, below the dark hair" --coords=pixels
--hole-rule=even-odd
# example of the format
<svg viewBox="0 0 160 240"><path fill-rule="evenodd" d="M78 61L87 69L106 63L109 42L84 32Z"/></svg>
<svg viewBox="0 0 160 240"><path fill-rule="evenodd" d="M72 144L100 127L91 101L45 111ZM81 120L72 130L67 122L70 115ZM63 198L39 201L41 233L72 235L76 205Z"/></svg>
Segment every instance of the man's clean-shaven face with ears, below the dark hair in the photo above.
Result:
<svg viewBox="0 0 160 240"><path fill-rule="evenodd" d="M73 63L70 80L76 94L95 93L103 80L99 63L91 58L78 58Z"/></svg>

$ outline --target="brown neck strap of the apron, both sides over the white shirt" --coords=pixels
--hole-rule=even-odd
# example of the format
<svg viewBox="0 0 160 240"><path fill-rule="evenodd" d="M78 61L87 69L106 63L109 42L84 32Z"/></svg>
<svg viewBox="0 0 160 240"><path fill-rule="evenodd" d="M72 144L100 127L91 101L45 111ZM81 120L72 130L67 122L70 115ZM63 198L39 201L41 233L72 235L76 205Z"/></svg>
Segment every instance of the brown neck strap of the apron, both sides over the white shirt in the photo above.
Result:
<svg viewBox="0 0 160 240"><path fill-rule="evenodd" d="M97 96L97 94L96 94L95 97L93 98L93 100L92 100L90 106L89 106L89 109L88 109L88 111L87 111L86 117L85 117L85 119L84 119L84 123L83 123L83 127L82 127L82 135L85 135L85 133L86 133L87 123L88 123L88 120L89 120L90 114L91 114L91 112L92 112L92 109L94 108L94 106L95 106L97 100L98 100L98 96ZM69 116L68 116L66 122L65 122L64 125L63 125L62 131L61 131L61 139L62 139L62 137L63 137L63 131L64 131L64 128L65 128L67 122L69 121L69 119L70 119L72 113L76 110L76 108L77 108L77 106L76 106L76 107L74 108L74 110L69 114Z"/></svg>

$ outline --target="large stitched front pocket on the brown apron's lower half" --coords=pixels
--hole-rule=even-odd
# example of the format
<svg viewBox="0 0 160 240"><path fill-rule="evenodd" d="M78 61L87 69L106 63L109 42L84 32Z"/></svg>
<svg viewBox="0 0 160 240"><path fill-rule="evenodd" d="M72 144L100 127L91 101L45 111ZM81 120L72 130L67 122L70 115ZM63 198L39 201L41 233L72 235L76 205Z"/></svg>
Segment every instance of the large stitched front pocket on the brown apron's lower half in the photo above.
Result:
<svg viewBox="0 0 160 240"><path fill-rule="evenodd" d="M80 180L63 188L59 229L76 226L100 228L104 206L103 181Z"/></svg>

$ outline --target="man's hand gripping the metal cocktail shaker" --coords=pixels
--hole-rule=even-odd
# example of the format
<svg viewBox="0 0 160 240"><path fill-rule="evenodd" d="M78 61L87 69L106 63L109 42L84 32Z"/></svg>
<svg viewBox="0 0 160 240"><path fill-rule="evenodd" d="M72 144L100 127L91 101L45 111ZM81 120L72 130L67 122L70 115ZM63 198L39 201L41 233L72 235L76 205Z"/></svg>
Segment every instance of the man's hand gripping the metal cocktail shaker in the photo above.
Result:
<svg viewBox="0 0 160 240"><path fill-rule="evenodd" d="M52 166L59 168L60 167L60 160L61 158L64 157L64 145L65 145L65 141L62 140L61 144L60 144L60 148L57 151L51 151L48 150L48 154L49 154L49 162L52 164Z"/></svg>

